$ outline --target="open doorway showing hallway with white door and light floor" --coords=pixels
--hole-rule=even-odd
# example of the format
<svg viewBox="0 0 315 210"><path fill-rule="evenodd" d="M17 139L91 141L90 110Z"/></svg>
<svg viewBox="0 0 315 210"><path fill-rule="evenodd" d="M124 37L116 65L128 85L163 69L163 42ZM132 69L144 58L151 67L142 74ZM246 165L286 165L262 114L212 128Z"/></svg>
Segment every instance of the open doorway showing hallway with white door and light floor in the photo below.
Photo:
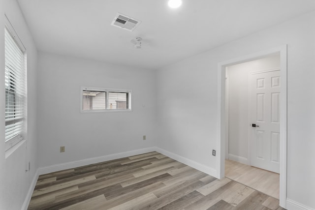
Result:
<svg viewBox="0 0 315 210"><path fill-rule="evenodd" d="M279 200L280 53L225 73L225 177Z"/></svg>

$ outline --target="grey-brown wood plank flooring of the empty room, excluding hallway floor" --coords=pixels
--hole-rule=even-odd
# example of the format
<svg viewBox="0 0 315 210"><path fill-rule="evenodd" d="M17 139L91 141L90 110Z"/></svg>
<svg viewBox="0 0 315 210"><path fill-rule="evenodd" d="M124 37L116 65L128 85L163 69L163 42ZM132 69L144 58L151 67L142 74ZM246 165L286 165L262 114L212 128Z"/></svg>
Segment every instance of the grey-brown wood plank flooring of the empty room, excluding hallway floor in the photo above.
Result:
<svg viewBox="0 0 315 210"><path fill-rule="evenodd" d="M284 210L279 200L158 152L41 175L28 210Z"/></svg>

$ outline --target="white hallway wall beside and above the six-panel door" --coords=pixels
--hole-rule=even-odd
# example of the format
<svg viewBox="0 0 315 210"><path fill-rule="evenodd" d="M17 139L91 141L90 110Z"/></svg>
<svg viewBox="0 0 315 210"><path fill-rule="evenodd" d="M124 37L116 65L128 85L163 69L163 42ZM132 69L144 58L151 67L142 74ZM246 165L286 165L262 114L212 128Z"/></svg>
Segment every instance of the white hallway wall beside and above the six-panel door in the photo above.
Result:
<svg viewBox="0 0 315 210"><path fill-rule="evenodd" d="M249 75L251 72L280 69L280 55L226 67L228 77L228 153L229 159L249 162Z"/></svg>

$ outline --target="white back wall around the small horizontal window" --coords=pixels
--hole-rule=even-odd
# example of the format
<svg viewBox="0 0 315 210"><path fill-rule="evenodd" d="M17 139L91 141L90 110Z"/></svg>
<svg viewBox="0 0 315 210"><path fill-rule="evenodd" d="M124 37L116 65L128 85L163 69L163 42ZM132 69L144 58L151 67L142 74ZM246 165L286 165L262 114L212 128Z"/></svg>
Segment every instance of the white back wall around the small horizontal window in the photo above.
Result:
<svg viewBox="0 0 315 210"><path fill-rule="evenodd" d="M38 58L40 167L155 146L152 70L47 53ZM131 89L132 112L80 114L80 86Z"/></svg>

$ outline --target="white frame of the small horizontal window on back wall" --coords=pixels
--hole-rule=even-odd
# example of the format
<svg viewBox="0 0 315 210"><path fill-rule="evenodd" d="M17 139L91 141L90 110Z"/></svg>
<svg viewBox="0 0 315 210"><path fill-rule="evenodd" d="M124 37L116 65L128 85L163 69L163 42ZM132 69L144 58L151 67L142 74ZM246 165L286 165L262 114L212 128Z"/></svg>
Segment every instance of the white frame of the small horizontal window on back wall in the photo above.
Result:
<svg viewBox="0 0 315 210"><path fill-rule="evenodd" d="M128 93L128 106L129 109L101 109L101 110L83 110L83 90L92 90L92 91L100 91L106 92L106 98L108 98L109 92L121 92ZM108 101L106 100L106 104ZM106 105L108 106L108 104ZM100 88L100 87L80 87L80 113L111 113L111 112L132 112L132 90L131 89L116 89L116 88Z"/></svg>

